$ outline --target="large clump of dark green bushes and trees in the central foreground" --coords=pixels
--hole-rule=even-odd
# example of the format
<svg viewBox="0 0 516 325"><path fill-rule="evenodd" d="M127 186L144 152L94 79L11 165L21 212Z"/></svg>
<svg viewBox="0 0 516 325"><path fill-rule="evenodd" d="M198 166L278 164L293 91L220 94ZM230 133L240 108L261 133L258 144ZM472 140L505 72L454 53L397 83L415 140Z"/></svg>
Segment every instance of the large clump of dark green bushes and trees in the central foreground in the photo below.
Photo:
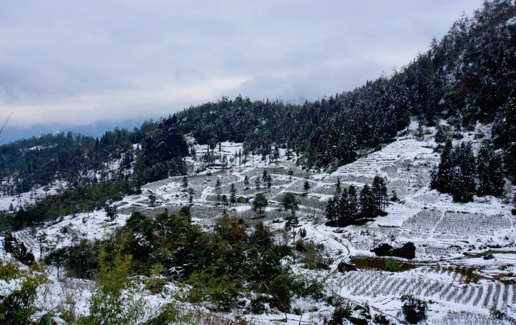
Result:
<svg viewBox="0 0 516 325"><path fill-rule="evenodd" d="M189 285L181 299L204 303L213 311L231 310L239 298L251 295L261 297L259 304L268 302L288 312L294 294L322 297L320 285L293 278L282 266L281 260L291 253L290 247L275 244L273 233L261 222L249 226L243 219L219 218L214 230L207 232L182 212L169 215L165 211L155 219L135 212L110 240L83 241L61 249L51 254L47 263L61 265L75 276L98 279L103 287L97 294L100 300L116 296L104 293L106 280L101 279L142 275L148 279L146 288L153 293L172 280ZM128 273L105 276L106 256L115 256L109 264L110 272ZM94 306L92 315L96 313ZM175 317L164 313L165 318Z"/></svg>

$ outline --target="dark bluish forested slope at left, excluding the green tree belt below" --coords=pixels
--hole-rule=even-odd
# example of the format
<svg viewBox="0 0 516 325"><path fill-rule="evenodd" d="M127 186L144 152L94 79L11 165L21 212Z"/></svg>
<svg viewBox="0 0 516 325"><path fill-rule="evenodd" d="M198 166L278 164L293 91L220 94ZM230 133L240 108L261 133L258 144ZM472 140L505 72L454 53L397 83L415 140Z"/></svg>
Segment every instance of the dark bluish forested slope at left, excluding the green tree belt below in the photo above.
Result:
<svg viewBox="0 0 516 325"><path fill-rule="evenodd" d="M142 184L184 174L181 158L188 155L188 145L172 120L175 115L144 122L133 131L116 128L100 140L61 132L2 145L2 191L19 194L54 181L69 187L121 180Z"/></svg>

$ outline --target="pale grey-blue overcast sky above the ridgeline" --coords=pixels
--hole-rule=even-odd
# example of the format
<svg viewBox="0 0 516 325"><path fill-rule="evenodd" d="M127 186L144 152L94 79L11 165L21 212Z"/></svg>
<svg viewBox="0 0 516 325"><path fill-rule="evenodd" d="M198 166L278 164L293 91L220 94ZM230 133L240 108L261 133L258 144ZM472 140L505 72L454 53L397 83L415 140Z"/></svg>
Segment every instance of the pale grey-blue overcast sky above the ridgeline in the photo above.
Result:
<svg viewBox="0 0 516 325"><path fill-rule="evenodd" d="M155 118L313 100L390 75L480 0L0 1L0 120Z"/></svg>

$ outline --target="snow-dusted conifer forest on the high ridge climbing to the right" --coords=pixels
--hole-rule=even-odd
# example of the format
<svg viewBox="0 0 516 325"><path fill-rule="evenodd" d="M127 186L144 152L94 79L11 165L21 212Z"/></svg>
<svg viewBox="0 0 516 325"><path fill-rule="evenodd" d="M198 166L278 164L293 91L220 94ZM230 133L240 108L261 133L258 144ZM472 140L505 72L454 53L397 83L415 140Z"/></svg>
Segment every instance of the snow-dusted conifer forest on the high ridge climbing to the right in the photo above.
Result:
<svg viewBox="0 0 516 325"><path fill-rule="evenodd" d="M389 141L409 123L448 119L457 130L495 122L494 143L514 161L516 19L510 1L486 2L458 20L430 49L391 77L303 105L226 97L184 110L181 130L200 143L244 142L268 155L271 146L301 151L304 163L324 167L356 158L356 149ZM509 166L512 177L515 166Z"/></svg>

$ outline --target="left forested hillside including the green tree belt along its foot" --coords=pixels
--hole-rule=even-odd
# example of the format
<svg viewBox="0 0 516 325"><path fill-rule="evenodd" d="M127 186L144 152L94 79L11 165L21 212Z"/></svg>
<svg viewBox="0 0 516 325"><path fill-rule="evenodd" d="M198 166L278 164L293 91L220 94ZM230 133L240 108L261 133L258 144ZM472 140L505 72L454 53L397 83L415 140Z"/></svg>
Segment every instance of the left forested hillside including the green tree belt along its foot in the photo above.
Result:
<svg viewBox="0 0 516 325"><path fill-rule="evenodd" d="M188 145L174 116L144 122L133 131L115 129L101 139L68 132L0 147L2 196L31 192L33 204L2 211L0 228L21 229L58 216L102 208L140 187L184 175ZM58 187L61 193L38 196Z"/></svg>

